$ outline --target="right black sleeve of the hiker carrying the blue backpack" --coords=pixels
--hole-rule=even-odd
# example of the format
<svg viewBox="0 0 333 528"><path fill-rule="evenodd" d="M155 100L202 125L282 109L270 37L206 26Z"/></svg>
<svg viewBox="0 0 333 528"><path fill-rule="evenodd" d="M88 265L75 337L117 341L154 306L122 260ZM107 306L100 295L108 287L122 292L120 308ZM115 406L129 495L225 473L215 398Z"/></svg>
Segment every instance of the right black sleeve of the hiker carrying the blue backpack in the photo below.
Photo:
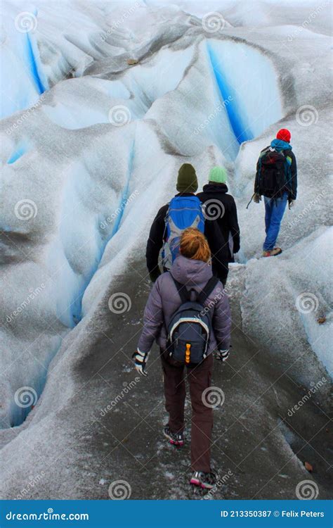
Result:
<svg viewBox="0 0 333 528"><path fill-rule="evenodd" d="M224 240L221 229L218 227L216 220L205 220L204 234L207 237L211 257L213 262L214 274L221 280L228 276L229 251L228 241Z"/></svg>

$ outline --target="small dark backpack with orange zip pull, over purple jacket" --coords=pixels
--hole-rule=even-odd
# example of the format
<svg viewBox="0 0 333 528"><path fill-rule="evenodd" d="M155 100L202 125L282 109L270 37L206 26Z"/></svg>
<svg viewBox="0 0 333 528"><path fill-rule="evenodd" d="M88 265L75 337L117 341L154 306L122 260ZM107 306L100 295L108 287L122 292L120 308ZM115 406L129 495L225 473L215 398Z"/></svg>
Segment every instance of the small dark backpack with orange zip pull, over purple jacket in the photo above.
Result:
<svg viewBox="0 0 333 528"><path fill-rule="evenodd" d="M204 307L204 301L218 284L218 279L211 277L200 294L195 290L188 291L176 279L174 283L181 297L181 306L171 317L167 351L169 356L182 365L201 363L207 356L212 329L211 310ZM197 296L195 301L190 300L192 291Z"/></svg>

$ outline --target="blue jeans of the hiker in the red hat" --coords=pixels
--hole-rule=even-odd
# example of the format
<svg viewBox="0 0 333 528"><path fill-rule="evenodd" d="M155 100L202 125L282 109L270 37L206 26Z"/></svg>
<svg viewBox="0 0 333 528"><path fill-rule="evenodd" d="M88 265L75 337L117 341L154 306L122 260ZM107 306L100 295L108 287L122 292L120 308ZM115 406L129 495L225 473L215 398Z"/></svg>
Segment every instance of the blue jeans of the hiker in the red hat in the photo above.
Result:
<svg viewBox="0 0 333 528"><path fill-rule="evenodd" d="M285 192L280 198L267 198L263 196L265 203L265 225L266 239L263 242L263 251L274 249L276 239L280 231L282 217L288 201L288 193Z"/></svg>

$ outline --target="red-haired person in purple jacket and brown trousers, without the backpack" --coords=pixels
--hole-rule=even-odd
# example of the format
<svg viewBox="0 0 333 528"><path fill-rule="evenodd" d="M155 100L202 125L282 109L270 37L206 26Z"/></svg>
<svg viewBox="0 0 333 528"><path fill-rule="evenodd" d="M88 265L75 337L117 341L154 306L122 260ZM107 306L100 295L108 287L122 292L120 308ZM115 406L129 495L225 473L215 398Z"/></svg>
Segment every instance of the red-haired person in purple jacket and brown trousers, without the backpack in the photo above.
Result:
<svg viewBox="0 0 333 528"><path fill-rule="evenodd" d="M157 278L145 306L143 331L138 341L135 357L136 370L146 376L145 366L154 341L160 348L164 372L164 394L169 423L164 436L175 446L184 444L185 364L180 364L166 350L168 327L174 313L181 306L177 284L185 285L190 296L200 295L212 277L211 252L204 234L188 228L181 237L180 255L169 272ZM213 409L207 404L207 392L211 386L213 351L216 358L225 361L230 347L230 308L223 285L215 279L216 286L204 301L204 309L211 314L211 335L207 355L198 364L186 365L192 403L190 483L211 489L216 477L211 472L210 448L213 427Z"/></svg>

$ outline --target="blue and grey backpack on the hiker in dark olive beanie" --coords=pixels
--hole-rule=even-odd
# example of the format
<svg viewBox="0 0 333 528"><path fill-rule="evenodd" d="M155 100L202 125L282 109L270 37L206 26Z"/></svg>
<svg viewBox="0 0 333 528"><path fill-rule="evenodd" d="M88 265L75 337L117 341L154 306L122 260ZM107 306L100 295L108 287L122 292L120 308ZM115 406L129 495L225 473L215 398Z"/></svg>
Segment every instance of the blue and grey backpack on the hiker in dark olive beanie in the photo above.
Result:
<svg viewBox="0 0 333 528"><path fill-rule="evenodd" d="M164 268L170 269L179 253L181 234L187 227L196 227L204 232L202 203L197 196L175 196L169 203L165 218L162 260Z"/></svg>

